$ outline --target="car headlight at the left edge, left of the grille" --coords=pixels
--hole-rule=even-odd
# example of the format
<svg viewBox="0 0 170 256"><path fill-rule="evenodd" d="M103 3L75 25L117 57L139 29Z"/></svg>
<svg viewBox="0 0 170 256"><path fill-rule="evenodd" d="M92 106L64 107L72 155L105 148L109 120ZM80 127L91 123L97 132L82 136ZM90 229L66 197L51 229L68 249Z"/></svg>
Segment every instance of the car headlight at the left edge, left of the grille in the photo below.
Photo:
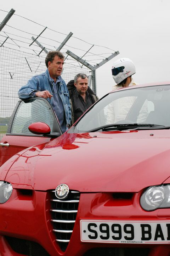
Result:
<svg viewBox="0 0 170 256"><path fill-rule="evenodd" d="M5 181L0 181L0 204L4 204L12 194L12 185Z"/></svg>

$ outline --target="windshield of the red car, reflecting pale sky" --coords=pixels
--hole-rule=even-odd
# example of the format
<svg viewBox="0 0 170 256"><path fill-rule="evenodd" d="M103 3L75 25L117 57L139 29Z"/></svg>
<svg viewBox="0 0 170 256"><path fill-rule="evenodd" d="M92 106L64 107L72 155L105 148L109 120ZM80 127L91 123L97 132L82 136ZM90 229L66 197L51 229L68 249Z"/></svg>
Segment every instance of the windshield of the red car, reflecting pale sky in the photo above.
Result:
<svg viewBox="0 0 170 256"><path fill-rule="evenodd" d="M135 129L139 126L170 126L170 85L132 87L109 93L92 106L69 132L113 130L117 127Z"/></svg>

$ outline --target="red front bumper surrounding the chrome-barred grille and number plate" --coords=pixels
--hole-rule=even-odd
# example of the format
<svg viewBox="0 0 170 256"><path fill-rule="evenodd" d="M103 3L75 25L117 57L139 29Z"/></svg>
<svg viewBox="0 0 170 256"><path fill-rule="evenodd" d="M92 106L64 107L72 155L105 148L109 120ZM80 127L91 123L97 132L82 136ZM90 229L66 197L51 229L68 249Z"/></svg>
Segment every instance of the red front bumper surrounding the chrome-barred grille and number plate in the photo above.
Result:
<svg viewBox="0 0 170 256"><path fill-rule="evenodd" d="M107 244L80 241L80 220L168 220L169 209L142 210L140 193L84 193L66 251L56 241L51 222L51 192L13 189L0 205L0 255L89 256L170 255L169 244ZM17 243L17 246L16 246Z"/></svg>

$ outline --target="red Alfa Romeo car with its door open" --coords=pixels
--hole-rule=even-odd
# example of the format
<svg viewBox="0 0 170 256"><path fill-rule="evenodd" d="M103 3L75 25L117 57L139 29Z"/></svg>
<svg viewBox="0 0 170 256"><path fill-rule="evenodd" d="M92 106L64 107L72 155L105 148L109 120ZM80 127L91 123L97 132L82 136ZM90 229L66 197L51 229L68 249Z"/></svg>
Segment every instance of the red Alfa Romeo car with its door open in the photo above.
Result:
<svg viewBox="0 0 170 256"><path fill-rule="evenodd" d="M1 256L170 255L170 83L115 90L64 134L20 100L0 143Z"/></svg>

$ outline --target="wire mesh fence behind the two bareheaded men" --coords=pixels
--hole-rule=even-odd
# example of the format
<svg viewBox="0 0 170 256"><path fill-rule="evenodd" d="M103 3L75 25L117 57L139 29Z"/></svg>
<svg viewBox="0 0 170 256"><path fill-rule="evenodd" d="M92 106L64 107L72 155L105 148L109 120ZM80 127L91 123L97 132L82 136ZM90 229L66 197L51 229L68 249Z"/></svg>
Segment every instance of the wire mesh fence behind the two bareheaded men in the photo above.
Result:
<svg viewBox="0 0 170 256"><path fill-rule="evenodd" d="M46 55L38 56L10 48L0 49L0 136L4 135L13 109L19 100L18 90L36 74L46 71ZM69 63L64 64L62 78L66 84L74 79L75 74L90 74L88 68L81 68Z"/></svg>

